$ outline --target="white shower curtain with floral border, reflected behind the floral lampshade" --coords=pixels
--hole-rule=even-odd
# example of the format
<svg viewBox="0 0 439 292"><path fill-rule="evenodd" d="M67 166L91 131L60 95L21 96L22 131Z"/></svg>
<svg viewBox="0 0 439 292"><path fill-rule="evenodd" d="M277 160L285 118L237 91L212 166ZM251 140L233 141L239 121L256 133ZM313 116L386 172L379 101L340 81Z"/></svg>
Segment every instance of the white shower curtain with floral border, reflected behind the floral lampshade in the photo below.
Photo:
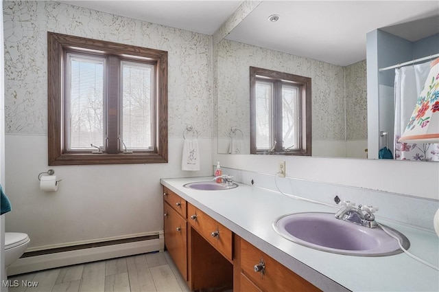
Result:
<svg viewBox="0 0 439 292"><path fill-rule="evenodd" d="M423 90L430 62L395 69L395 159L439 161L439 144L399 143Z"/></svg>

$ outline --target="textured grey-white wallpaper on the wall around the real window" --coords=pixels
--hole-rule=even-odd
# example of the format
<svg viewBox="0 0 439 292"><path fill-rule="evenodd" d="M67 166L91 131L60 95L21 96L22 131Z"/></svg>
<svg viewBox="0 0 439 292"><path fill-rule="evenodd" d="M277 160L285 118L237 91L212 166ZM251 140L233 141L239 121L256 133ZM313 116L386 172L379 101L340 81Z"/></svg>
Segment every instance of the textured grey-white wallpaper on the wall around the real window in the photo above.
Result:
<svg viewBox="0 0 439 292"><path fill-rule="evenodd" d="M3 1L5 132L47 134L47 32L168 52L169 137L211 137L211 36L55 1Z"/></svg>

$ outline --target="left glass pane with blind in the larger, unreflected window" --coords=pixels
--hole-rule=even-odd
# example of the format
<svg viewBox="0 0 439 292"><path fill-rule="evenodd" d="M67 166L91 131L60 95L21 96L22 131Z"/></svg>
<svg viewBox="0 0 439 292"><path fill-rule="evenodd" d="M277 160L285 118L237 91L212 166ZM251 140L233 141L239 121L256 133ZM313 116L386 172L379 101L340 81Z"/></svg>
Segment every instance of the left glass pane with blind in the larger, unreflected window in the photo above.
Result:
<svg viewBox="0 0 439 292"><path fill-rule="evenodd" d="M105 58L67 54L67 150L104 146Z"/></svg>

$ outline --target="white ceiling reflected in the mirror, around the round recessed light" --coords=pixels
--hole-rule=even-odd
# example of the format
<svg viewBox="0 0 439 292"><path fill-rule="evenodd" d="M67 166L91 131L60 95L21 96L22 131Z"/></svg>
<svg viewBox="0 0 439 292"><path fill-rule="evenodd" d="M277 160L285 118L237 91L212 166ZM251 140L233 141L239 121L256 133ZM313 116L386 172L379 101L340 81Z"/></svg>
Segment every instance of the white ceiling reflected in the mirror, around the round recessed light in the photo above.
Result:
<svg viewBox="0 0 439 292"><path fill-rule="evenodd" d="M270 23L271 14L280 19ZM433 23L425 31L396 25L426 17ZM411 41L436 34L439 1L263 1L226 38L351 65L366 59L366 34L390 25L392 34Z"/></svg>

